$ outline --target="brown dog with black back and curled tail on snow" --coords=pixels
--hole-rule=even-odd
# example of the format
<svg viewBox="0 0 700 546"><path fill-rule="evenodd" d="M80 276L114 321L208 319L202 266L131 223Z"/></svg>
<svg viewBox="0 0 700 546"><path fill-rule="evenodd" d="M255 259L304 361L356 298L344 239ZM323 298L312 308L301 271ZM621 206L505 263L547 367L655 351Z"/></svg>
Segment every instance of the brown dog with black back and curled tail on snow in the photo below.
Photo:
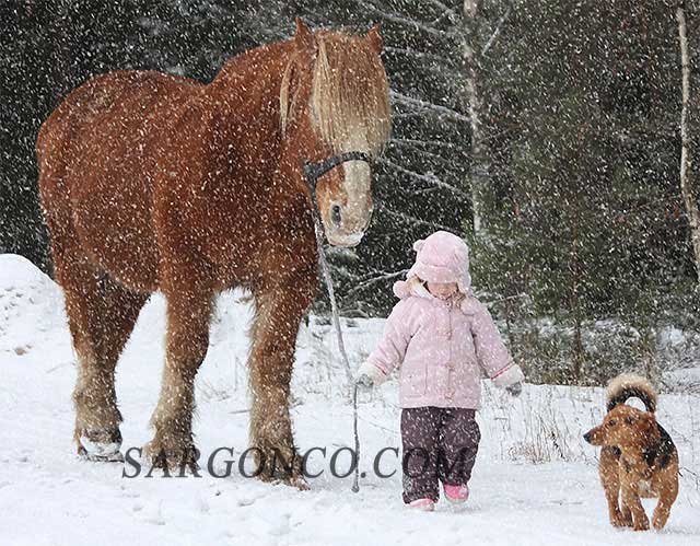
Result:
<svg viewBox="0 0 700 546"><path fill-rule="evenodd" d="M644 403L646 411L625 404L633 396ZM654 528L662 528L678 496L678 452L668 432L654 418L656 393L644 377L622 374L610 381L607 400L608 414L603 425L583 438L603 446L598 472L610 523L648 530L649 519L640 498L657 497L652 523Z"/></svg>

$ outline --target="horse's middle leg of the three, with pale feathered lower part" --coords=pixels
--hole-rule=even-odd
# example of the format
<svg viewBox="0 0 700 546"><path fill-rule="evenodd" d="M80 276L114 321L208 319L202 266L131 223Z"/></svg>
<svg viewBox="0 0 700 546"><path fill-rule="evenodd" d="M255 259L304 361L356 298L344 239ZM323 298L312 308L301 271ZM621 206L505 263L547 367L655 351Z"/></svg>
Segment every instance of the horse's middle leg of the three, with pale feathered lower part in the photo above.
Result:
<svg viewBox="0 0 700 546"><path fill-rule="evenodd" d="M213 293L205 280L196 280L196 270L179 275L187 286L163 287L167 299L165 367L161 395L151 425L153 440L145 455L155 466L196 468L192 440L195 376L207 355Z"/></svg>

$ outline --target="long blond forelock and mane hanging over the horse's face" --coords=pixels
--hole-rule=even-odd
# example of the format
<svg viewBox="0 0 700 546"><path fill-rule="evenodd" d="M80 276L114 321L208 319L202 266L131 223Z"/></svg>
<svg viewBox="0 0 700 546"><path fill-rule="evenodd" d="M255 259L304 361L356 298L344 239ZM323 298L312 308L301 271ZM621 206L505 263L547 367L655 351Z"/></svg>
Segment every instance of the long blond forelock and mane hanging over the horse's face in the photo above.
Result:
<svg viewBox="0 0 700 546"><path fill-rule="evenodd" d="M318 53L313 67L311 121L334 153L352 150L378 154L392 128L388 82L378 55L361 36L316 33ZM280 89L282 130L293 115L289 98L295 57L290 59Z"/></svg>

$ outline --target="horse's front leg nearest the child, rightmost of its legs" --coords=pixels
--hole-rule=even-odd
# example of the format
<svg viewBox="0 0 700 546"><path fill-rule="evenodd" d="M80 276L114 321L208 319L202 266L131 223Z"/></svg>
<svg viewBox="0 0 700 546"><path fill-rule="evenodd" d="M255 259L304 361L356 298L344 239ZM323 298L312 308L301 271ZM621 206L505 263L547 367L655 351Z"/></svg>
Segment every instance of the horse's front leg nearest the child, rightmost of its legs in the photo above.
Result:
<svg viewBox="0 0 700 546"><path fill-rule="evenodd" d="M315 279L296 280L256 293L253 347L250 448L264 480L306 488L289 414L290 381L301 318L313 300Z"/></svg>

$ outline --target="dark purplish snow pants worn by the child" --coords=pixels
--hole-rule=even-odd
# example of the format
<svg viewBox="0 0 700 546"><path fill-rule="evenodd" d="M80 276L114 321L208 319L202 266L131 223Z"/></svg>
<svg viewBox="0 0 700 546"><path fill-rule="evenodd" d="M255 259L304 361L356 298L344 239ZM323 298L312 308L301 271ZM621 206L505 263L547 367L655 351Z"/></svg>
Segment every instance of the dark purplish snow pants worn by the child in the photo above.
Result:
<svg viewBox="0 0 700 546"><path fill-rule="evenodd" d="M434 406L401 410L404 502L438 501L440 481L469 481L481 438L475 413Z"/></svg>

